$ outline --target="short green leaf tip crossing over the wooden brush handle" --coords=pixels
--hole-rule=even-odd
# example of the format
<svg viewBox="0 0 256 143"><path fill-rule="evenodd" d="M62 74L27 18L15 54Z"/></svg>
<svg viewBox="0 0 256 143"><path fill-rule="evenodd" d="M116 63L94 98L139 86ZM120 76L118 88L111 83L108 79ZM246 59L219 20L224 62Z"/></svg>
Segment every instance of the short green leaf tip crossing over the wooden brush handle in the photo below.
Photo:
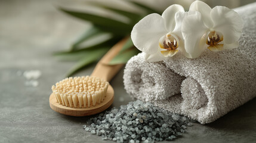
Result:
<svg viewBox="0 0 256 143"><path fill-rule="evenodd" d="M114 65L114 64L125 64L127 63L127 61L133 57L134 55L137 55L140 51L138 51L137 48L130 48L127 49L124 52L119 52L118 55L116 55L116 57L114 57L109 64L110 65Z"/></svg>

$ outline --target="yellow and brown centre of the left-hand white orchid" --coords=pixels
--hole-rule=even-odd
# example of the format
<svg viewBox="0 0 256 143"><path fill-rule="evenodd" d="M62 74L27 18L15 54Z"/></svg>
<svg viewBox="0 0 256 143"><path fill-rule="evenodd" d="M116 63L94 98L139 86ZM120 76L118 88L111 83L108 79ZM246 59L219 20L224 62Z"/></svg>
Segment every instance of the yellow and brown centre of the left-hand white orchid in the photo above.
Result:
<svg viewBox="0 0 256 143"><path fill-rule="evenodd" d="M162 49L161 53L165 57L172 57L178 52L178 37L174 34L166 34L160 41L159 46Z"/></svg>

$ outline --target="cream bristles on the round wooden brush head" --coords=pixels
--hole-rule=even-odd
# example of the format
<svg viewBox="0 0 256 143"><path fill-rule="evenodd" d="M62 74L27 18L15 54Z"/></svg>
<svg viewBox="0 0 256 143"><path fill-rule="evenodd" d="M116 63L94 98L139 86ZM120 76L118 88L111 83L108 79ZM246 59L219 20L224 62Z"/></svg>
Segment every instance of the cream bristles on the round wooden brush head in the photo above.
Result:
<svg viewBox="0 0 256 143"><path fill-rule="evenodd" d="M52 86L59 104L86 108L103 102L109 82L98 77L69 77Z"/></svg>

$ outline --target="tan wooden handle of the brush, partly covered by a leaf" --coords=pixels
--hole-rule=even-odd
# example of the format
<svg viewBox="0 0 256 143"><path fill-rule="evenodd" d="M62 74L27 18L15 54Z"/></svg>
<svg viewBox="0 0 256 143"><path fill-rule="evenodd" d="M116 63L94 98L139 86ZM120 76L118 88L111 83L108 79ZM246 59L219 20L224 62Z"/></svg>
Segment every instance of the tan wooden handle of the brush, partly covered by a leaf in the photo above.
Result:
<svg viewBox="0 0 256 143"><path fill-rule="evenodd" d="M114 45L102 58L98 61L91 76L100 77L108 82L118 73L124 64L109 65L109 62L119 53L119 51L127 42L128 38L122 39Z"/></svg>

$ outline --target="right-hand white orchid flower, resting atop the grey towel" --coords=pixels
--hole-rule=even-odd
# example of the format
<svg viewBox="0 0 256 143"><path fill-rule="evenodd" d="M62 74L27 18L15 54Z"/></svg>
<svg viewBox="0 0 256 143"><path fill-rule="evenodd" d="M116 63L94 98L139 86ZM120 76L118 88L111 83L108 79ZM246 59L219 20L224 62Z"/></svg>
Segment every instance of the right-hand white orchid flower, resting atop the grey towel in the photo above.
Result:
<svg viewBox="0 0 256 143"><path fill-rule="evenodd" d="M206 48L211 51L238 48L243 27L238 13L221 6L211 9L202 1L193 2L189 11L201 14L188 15L183 20L181 33L186 57L197 58Z"/></svg>

